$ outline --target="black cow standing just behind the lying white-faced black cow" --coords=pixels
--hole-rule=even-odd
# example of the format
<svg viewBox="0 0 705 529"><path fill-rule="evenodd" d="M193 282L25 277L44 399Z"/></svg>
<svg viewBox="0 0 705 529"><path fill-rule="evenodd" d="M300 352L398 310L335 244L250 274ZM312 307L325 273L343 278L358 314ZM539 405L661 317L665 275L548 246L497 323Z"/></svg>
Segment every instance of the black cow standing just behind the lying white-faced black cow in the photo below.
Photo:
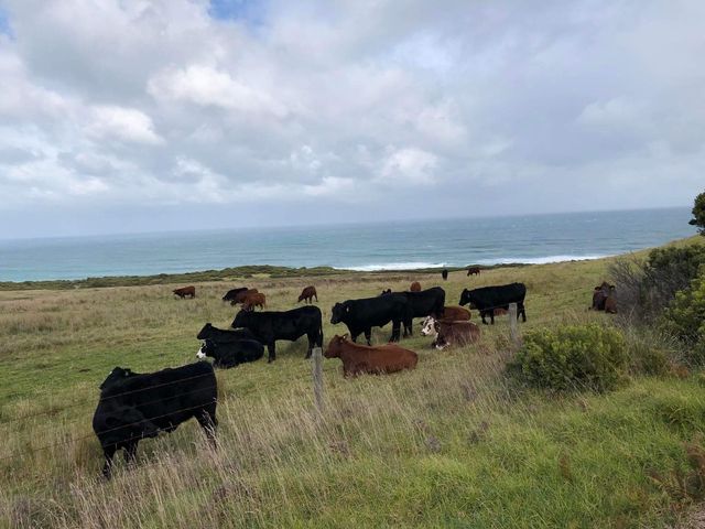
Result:
<svg viewBox="0 0 705 529"><path fill-rule="evenodd" d="M269 358L276 359L276 341L295 342L304 334L308 338L306 358L311 357L314 346L323 347L323 317L317 306L300 306L291 311L240 311L236 314L231 327L248 328L258 342L267 345Z"/></svg>

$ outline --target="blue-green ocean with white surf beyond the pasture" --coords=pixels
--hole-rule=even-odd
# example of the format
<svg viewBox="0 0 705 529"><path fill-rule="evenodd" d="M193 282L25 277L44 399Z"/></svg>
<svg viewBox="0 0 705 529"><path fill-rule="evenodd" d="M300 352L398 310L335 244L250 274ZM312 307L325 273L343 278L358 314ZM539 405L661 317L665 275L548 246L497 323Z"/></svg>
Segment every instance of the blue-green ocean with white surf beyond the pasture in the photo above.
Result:
<svg viewBox="0 0 705 529"><path fill-rule="evenodd" d="M695 235L687 207L0 240L0 281L243 264L402 270L595 259Z"/></svg>

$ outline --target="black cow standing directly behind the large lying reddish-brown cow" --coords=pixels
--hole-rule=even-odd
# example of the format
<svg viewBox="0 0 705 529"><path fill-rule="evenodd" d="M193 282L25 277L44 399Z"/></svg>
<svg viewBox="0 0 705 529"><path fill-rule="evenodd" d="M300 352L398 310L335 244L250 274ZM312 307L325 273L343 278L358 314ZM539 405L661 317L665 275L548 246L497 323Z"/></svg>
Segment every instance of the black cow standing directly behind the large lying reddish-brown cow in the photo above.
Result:
<svg viewBox="0 0 705 529"><path fill-rule="evenodd" d="M401 324L404 324L404 336L406 336L412 317L406 296L403 293L390 293L336 303L333 306L330 323L345 323L350 331L352 342L364 332L367 345L372 345L370 342L372 327L383 327L392 322L392 336L389 341L399 342Z"/></svg>

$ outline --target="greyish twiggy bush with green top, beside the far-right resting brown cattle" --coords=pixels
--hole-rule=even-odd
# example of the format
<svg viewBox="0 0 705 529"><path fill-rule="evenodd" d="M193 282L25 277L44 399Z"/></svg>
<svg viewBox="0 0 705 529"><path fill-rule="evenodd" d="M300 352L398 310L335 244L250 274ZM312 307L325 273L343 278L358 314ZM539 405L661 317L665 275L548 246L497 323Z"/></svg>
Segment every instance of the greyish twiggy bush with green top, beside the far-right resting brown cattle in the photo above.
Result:
<svg viewBox="0 0 705 529"><path fill-rule="evenodd" d="M619 317L643 323L657 320L675 293L687 289L705 264L705 246L657 248L646 261L618 259L609 268L617 285Z"/></svg>

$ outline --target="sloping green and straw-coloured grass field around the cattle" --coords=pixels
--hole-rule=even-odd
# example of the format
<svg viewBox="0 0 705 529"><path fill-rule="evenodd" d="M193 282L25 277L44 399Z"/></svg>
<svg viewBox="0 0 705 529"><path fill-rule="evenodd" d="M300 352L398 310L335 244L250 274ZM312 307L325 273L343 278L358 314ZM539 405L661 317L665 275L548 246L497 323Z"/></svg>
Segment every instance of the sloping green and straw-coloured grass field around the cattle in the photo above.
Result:
<svg viewBox="0 0 705 529"><path fill-rule="evenodd" d="M507 317L479 344L430 349L419 325L402 345L414 371L344 379L324 360L325 411L315 412L305 338L278 359L218 371L220 446L195 421L140 443L139 462L99 477L90 427L112 367L156 370L195 360L204 323L227 327L234 287L256 287L268 309L296 305L315 284L326 342L337 301L440 284L522 281L525 331L605 321L587 311L609 259L453 272L335 273L186 283L0 290L0 525L7 527L669 527L684 442L699 442L705 392L697 373L633 377L607 395L551 396L512 386ZM283 276L283 274L282 274ZM180 278L182 279L182 278ZM193 278L191 278L193 279ZM112 284L119 281L112 281ZM75 285L77 287L77 285ZM477 314L474 314L477 321ZM386 342L390 326L373 332Z"/></svg>

